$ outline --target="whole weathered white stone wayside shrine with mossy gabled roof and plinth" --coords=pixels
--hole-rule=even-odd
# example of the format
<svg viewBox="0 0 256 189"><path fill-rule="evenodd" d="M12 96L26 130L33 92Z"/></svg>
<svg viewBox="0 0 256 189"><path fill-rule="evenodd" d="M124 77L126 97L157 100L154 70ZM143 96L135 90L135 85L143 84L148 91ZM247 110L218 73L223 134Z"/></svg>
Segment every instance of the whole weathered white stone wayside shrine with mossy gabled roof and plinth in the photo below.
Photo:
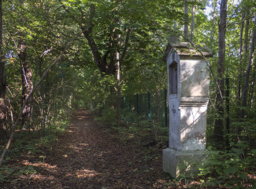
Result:
<svg viewBox="0 0 256 189"><path fill-rule="evenodd" d="M206 45L198 50L212 56ZM174 178L193 176L206 158L206 110L210 79L206 61L190 43L170 38L165 52L168 75L169 147L163 169Z"/></svg>

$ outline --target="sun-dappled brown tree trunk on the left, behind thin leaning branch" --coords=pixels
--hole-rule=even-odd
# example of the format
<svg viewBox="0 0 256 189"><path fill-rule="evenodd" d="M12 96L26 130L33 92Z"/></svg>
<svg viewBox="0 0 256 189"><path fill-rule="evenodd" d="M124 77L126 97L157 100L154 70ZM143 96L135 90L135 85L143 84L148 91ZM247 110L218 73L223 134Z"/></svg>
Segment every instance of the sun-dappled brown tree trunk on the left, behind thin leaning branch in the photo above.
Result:
<svg viewBox="0 0 256 189"><path fill-rule="evenodd" d="M27 60L26 45L24 41L19 42L19 51L18 56L20 57L20 72L21 72L21 81L22 81L22 104L28 98L29 94L33 90L32 82L32 68ZM28 100L28 104L25 105L24 110L22 111L22 125L26 125L30 118L31 114L31 101ZM28 128L29 129L29 128Z"/></svg>

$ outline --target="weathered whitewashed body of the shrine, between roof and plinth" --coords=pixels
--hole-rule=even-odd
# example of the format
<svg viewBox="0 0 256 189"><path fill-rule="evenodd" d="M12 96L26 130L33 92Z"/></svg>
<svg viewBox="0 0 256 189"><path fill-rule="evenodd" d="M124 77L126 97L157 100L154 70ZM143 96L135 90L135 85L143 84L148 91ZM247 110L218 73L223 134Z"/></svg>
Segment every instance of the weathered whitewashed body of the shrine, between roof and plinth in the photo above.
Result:
<svg viewBox="0 0 256 189"><path fill-rule="evenodd" d="M182 59L174 49L167 60L169 76L169 147L176 151L206 149L206 109L209 99L209 73L206 62ZM176 83L172 65L176 63ZM176 89L172 89L176 88ZM176 93L173 93L175 91Z"/></svg>

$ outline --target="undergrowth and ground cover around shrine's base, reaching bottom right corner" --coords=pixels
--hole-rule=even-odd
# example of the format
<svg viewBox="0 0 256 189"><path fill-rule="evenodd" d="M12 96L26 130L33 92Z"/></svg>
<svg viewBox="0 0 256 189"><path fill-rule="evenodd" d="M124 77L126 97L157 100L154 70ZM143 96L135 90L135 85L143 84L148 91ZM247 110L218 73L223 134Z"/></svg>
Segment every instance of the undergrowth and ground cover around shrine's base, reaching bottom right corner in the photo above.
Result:
<svg viewBox="0 0 256 189"><path fill-rule="evenodd" d="M250 149L247 142L231 143L228 151L208 151L208 157L195 177L183 174L173 183L187 188L256 188L256 149Z"/></svg>

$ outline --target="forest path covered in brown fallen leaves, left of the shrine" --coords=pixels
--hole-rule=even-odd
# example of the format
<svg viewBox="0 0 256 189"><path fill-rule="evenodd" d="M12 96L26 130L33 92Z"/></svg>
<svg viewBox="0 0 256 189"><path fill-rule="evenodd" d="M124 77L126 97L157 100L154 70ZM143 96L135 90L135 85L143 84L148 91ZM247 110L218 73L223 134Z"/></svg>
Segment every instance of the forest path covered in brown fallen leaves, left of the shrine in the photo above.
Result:
<svg viewBox="0 0 256 189"><path fill-rule="evenodd" d="M120 140L104 132L89 111L77 110L69 129L47 150L44 162L26 160L38 166L37 173L12 188L163 188L166 180L161 149L143 147L132 137ZM41 158L42 161L42 158Z"/></svg>

